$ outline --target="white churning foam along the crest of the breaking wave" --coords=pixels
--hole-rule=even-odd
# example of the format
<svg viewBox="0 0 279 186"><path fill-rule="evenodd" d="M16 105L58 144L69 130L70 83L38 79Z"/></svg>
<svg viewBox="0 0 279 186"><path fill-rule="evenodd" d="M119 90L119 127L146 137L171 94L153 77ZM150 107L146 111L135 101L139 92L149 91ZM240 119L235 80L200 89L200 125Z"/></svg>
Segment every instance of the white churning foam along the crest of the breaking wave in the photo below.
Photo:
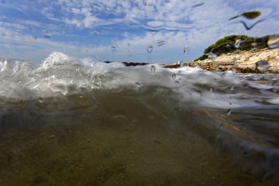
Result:
<svg viewBox="0 0 279 186"><path fill-rule="evenodd" d="M143 86L162 86L178 93L177 98L183 102L229 109L260 105L266 96L258 93L251 95L250 88L272 88L266 84L247 82L230 71L223 77L221 72L208 72L199 67L168 69L162 65L153 65L156 72L151 73L151 65L126 67L122 63L82 63L61 52L53 52L40 64L1 59L0 96L5 100L27 100L93 89L117 92L127 88L137 90ZM177 82L172 79L173 75L176 75ZM232 86L236 91L231 91Z"/></svg>

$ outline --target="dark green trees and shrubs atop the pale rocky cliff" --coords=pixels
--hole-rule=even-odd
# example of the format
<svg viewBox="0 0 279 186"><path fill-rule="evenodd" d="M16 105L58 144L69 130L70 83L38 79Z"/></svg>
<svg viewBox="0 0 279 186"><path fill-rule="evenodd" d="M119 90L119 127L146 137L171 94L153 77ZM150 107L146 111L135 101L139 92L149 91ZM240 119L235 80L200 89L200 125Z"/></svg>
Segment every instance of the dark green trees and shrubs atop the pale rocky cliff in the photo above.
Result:
<svg viewBox="0 0 279 186"><path fill-rule="evenodd" d="M235 52L236 50L250 50L253 48L257 49L263 49L267 47L266 41L268 39L268 36L264 36L262 38L252 38L245 35L232 35L232 36L226 36L225 38L222 38L218 40L215 44L207 47L204 49L204 55L200 56L198 60L204 60L207 59L207 53L213 52L217 54L217 56L220 56L221 54L227 54L229 52ZM239 46L236 46L236 40L241 40L241 43Z"/></svg>

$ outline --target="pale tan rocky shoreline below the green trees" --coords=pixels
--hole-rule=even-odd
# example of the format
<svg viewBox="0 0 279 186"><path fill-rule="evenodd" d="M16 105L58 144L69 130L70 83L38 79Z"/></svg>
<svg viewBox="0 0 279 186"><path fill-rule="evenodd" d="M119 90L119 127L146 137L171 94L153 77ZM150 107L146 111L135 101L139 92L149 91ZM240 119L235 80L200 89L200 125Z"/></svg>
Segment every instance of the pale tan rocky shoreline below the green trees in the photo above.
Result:
<svg viewBox="0 0 279 186"><path fill-rule="evenodd" d="M269 69L266 72L259 72L255 65L257 61L262 60L269 62ZM233 53L218 56L215 61L205 59L184 62L184 65L192 67L199 65L200 68L211 72L232 70L237 73L279 73L279 48L236 50ZM179 68L180 66L180 64L165 65L165 68Z"/></svg>

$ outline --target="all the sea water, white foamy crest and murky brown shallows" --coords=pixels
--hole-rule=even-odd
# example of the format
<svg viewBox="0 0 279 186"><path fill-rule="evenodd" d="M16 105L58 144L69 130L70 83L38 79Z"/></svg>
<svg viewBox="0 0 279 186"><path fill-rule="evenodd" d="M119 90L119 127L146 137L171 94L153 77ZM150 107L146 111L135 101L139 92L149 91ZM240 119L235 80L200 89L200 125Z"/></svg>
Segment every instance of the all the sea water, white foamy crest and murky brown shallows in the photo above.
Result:
<svg viewBox="0 0 279 186"><path fill-rule="evenodd" d="M278 183L278 75L0 61L1 185Z"/></svg>

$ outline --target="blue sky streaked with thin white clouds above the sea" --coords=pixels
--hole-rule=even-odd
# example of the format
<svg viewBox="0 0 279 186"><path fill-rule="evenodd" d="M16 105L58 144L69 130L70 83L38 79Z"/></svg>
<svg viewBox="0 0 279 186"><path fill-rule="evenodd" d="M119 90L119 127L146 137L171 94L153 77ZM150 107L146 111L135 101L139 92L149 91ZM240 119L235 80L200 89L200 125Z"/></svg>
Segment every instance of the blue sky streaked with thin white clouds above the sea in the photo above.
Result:
<svg viewBox="0 0 279 186"><path fill-rule="evenodd" d="M262 14L229 20L251 10ZM259 20L250 30L240 23ZM225 36L276 33L277 0L0 0L0 58L38 63L62 52L80 61L170 64L197 59Z"/></svg>

